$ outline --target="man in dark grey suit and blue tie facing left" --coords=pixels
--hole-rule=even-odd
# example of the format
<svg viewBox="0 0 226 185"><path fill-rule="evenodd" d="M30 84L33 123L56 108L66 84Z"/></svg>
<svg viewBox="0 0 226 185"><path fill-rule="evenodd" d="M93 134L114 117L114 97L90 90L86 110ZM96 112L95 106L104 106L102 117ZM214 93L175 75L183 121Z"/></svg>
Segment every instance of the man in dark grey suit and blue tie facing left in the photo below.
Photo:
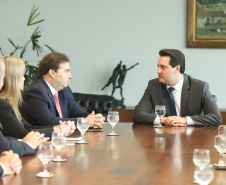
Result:
<svg viewBox="0 0 226 185"><path fill-rule="evenodd" d="M152 111L156 105L165 105L166 115L161 120L162 124L220 125L222 117L209 85L184 74L184 54L175 49L163 49L159 54L159 78L149 81L142 99L135 107L133 122L159 124L159 119Z"/></svg>

